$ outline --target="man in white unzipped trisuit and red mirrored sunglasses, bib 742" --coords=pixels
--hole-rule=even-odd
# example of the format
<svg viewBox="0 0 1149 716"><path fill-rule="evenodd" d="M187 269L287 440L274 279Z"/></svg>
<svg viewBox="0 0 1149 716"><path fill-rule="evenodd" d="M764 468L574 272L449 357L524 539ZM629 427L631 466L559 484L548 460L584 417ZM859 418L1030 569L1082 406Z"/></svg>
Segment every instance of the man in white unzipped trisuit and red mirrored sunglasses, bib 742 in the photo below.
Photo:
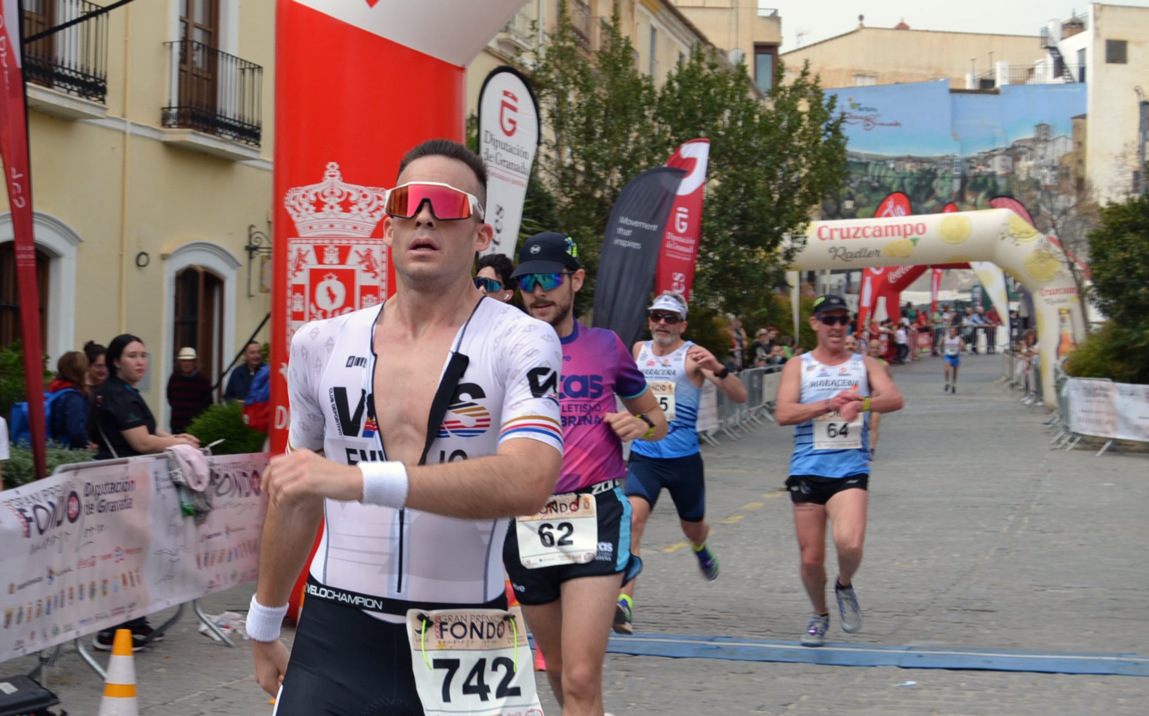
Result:
<svg viewBox="0 0 1149 716"><path fill-rule="evenodd" d="M406 623L423 618L427 630L444 623L426 621L433 609L506 608L507 517L538 510L562 463L558 338L471 280L493 233L483 161L431 140L407 154L396 183L383 220L395 294L292 340L290 452L263 477L270 502L247 618L256 680L280 691L279 716L423 714L432 706L414 669L441 679L453 707L481 706L464 680L470 671L481 683L480 664L454 678L442 663L415 663ZM279 623L324 517L288 663ZM530 662L503 671L501 691L533 673Z"/></svg>

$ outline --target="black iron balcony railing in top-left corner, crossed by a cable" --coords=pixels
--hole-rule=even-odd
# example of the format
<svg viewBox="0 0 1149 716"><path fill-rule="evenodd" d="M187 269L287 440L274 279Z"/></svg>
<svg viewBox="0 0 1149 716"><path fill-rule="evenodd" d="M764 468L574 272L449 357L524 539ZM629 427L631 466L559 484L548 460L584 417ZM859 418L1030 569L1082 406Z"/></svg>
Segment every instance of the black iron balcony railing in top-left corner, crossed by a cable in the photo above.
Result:
<svg viewBox="0 0 1149 716"><path fill-rule="evenodd" d="M24 37L100 9L85 0L24 5ZM24 45L28 82L103 103L108 95L108 16L98 15Z"/></svg>

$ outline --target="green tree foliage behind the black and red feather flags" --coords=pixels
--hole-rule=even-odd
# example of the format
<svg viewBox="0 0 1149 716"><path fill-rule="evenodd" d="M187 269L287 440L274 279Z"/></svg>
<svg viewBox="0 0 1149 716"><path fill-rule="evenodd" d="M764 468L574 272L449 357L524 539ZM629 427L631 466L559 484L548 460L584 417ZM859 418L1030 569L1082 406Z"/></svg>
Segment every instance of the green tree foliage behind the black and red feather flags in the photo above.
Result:
<svg viewBox="0 0 1149 716"><path fill-rule="evenodd" d="M776 287L804 241L811 213L847 176L841 120L834 98L825 97L808 68L784 84L779 64L773 90L762 97L745 64L731 67L700 46L660 88L635 61L617 6L592 61L560 3L557 28L531 76L545 122L537 162L545 188L535 190L535 202L555 223L535 215L529 195L524 231L546 226L579 241L589 280L576 309L585 313L618 193L683 143L709 139L691 333L725 352L724 314L754 316L749 330L758 316L788 313L778 310ZM782 246L786 234L794 237L792 246Z"/></svg>

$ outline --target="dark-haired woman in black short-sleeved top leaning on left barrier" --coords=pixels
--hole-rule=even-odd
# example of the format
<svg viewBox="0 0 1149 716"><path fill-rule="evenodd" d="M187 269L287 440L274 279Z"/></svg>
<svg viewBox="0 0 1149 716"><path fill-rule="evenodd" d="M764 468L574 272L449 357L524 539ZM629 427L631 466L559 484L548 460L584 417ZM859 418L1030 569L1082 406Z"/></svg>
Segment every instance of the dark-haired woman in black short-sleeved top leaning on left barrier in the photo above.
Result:
<svg viewBox="0 0 1149 716"><path fill-rule="evenodd" d="M162 453L172 445L200 446L194 436L171 436L155 426L152 410L136 390L147 372L148 354L144 341L124 333L108 344L108 379L97 390L88 416L88 436L97 444L97 460L132 457ZM132 650L144 648L152 628L144 617L131 619L97 633L92 646L110 652L117 629L132 632ZM163 634L152 636L161 641Z"/></svg>

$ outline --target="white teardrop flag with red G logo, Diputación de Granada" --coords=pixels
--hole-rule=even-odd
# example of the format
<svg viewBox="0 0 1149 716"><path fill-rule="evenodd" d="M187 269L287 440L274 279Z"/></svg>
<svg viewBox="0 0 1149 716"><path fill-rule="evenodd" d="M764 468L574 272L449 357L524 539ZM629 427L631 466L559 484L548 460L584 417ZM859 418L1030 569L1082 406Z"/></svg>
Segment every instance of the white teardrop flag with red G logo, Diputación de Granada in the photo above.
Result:
<svg viewBox="0 0 1149 716"><path fill-rule="evenodd" d="M542 136L531 83L512 67L495 68L479 91L479 156L487 163L487 223L494 238L484 255L515 256L531 165Z"/></svg>

